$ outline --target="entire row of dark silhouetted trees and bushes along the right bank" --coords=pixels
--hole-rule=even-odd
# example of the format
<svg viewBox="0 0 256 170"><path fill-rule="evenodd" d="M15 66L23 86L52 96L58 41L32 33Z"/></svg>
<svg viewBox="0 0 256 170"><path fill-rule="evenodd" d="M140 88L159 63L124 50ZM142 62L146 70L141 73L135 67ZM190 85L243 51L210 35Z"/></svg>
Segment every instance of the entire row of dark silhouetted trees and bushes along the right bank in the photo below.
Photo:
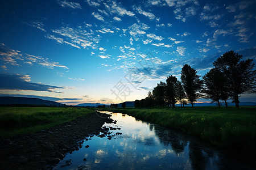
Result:
<svg viewBox="0 0 256 170"><path fill-rule="evenodd" d="M228 107L227 100L232 99L239 107L241 94L255 93L256 70L253 59L242 60L242 55L231 50L218 57L213 66L201 78L195 69L185 64L181 70L181 81L176 76L168 76L166 82L158 83L145 99L135 100L134 106L175 107L179 102L180 107L184 107L188 102L193 108L196 99L203 97L217 102L218 107L221 100Z"/></svg>

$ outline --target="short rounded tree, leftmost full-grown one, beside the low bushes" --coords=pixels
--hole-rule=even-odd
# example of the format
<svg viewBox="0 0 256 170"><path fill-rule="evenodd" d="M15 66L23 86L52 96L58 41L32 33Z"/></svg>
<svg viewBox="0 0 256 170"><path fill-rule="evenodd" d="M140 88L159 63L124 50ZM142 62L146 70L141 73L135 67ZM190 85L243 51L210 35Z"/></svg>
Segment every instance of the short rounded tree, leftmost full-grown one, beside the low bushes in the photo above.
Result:
<svg viewBox="0 0 256 170"><path fill-rule="evenodd" d="M158 103L158 105L160 105L160 107L164 106L164 102L165 102L165 88L166 88L166 83L164 82L160 82L158 83L158 85L156 87L154 87L153 90L153 96L156 100L156 102Z"/></svg>

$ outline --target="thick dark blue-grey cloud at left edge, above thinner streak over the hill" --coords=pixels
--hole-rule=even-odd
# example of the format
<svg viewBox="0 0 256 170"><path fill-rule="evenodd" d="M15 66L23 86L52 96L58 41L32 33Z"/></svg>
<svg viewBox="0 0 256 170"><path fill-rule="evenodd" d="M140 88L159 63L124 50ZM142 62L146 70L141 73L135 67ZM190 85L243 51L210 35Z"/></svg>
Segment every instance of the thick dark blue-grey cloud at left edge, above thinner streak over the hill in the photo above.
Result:
<svg viewBox="0 0 256 170"><path fill-rule="evenodd" d="M64 87L58 87L58 86L49 86L41 83L31 83L29 75L0 73L0 79L1 79L1 84L0 84L1 90L56 92L53 90L64 88Z"/></svg>

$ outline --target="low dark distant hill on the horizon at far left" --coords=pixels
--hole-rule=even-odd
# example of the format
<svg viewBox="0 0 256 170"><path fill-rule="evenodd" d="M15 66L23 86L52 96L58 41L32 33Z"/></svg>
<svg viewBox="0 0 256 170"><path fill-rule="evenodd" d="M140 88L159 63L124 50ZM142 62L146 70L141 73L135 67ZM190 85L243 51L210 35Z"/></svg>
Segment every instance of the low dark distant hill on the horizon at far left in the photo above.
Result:
<svg viewBox="0 0 256 170"><path fill-rule="evenodd" d="M0 105L6 104L28 104L28 105L63 105L55 101L42 100L28 97L0 97Z"/></svg>

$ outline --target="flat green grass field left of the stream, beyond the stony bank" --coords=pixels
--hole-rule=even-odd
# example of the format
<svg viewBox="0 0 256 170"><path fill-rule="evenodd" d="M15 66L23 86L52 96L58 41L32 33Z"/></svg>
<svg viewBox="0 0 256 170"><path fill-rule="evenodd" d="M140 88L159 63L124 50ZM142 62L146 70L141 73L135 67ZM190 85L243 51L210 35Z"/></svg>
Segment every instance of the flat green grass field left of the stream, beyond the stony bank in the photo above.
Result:
<svg viewBox="0 0 256 170"><path fill-rule="evenodd" d="M92 112L86 108L0 107L0 138L51 128Z"/></svg>

